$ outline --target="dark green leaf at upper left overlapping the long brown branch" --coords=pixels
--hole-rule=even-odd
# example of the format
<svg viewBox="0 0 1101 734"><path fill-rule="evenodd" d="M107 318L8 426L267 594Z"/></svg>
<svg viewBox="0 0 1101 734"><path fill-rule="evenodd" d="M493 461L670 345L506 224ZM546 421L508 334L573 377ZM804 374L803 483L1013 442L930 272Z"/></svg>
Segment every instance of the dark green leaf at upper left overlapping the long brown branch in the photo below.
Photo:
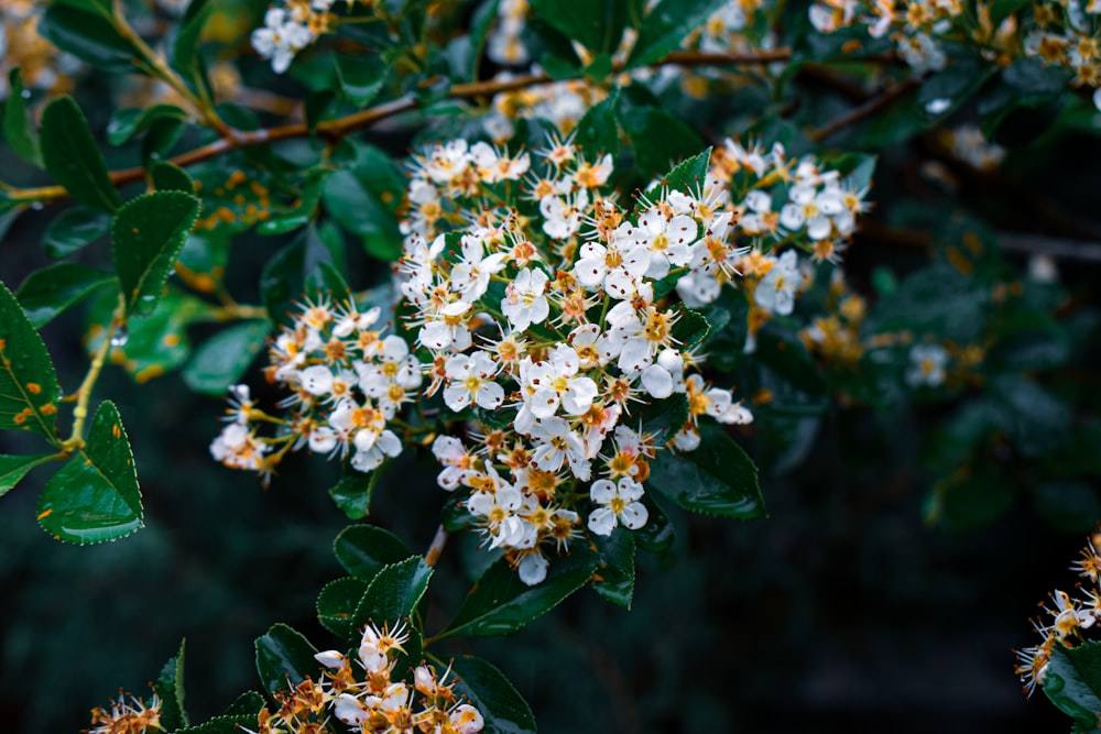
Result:
<svg viewBox="0 0 1101 734"><path fill-rule="evenodd" d="M119 208L122 199L107 173L107 163L72 97L59 97L46 106L40 134L46 171L74 199L109 212Z"/></svg>

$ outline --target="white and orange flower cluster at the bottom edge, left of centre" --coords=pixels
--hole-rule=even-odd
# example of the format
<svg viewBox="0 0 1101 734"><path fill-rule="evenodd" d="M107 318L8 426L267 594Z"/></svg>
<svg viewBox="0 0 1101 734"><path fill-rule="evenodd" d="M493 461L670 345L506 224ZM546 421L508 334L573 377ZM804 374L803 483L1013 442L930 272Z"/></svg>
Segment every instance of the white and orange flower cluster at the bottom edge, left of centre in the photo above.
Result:
<svg viewBox="0 0 1101 734"><path fill-rule="evenodd" d="M355 658L337 650L314 657L325 666L320 682L306 678L275 692L280 709L260 711L259 731L250 734L315 734L329 731L337 719L348 731L423 732L424 734L478 734L484 726L481 712L455 693L448 673L429 665L413 671L410 686L395 675L399 655L408 642L404 627L389 631L368 625Z"/></svg>

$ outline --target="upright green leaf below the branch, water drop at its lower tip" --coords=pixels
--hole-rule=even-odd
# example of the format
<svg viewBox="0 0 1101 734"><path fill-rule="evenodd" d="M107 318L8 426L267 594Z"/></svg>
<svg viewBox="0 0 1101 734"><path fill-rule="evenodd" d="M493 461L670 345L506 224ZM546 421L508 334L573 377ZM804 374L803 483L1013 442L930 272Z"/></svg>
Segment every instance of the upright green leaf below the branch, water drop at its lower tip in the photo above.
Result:
<svg viewBox="0 0 1101 734"><path fill-rule="evenodd" d="M119 209L111 250L128 315L144 316L156 308L198 216L199 200L182 191L146 194Z"/></svg>

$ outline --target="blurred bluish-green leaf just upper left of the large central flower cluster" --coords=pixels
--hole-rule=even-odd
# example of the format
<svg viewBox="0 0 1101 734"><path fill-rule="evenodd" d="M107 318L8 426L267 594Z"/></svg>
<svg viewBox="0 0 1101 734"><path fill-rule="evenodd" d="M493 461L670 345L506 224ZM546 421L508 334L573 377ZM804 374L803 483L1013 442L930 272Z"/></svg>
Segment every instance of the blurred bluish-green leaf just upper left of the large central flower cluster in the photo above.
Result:
<svg viewBox="0 0 1101 734"><path fill-rule="evenodd" d="M325 182L325 208L337 222L358 235L371 256L385 262L402 254L397 219L380 198L351 171L338 171Z"/></svg>

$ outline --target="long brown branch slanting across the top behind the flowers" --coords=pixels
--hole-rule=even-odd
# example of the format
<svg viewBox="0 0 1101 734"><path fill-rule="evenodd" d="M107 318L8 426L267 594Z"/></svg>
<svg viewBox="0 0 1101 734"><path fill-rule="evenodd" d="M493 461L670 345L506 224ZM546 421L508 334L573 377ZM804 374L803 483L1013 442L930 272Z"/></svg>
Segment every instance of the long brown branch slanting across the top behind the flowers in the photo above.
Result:
<svg viewBox="0 0 1101 734"><path fill-rule="evenodd" d="M755 53L705 53L698 51L679 51L668 54L665 58L653 64L659 67L669 64L679 66L713 66L722 64L768 64L777 61L786 61L792 57L789 48L776 48L772 51L760 51ZM613 74L622 72L622 67L613 69ZM505 91L526 89L528 87L548 84L553 79L546 74L524 74L511 79L489 79L486 81L471 81L457 84L451 87L447 95L448 99L476 99L479 97L492 97ZM358 130L369 128L380 120L391 118L403 112L408 112L421 107L421 101L413 95L399 97L395 100L377 105L366 110L355 112L336 120L326 120L316 128L316 134L326 140L338 140ZM187 167L196 163L209 161L230 151L254 145L264 145L281 140L294 138L305 138L309 134L304 122L280 125L264 130L233 131L232 134L224 136L193 151L188 151L171 158L171 162L181 167ZM111 183L115 186L132 184L145 175L143 167L124 168L110 173ZM9 198L32 201L57 201L68 197L68 193L61 186L44 186L42 188L11 189Z"/></svg>

